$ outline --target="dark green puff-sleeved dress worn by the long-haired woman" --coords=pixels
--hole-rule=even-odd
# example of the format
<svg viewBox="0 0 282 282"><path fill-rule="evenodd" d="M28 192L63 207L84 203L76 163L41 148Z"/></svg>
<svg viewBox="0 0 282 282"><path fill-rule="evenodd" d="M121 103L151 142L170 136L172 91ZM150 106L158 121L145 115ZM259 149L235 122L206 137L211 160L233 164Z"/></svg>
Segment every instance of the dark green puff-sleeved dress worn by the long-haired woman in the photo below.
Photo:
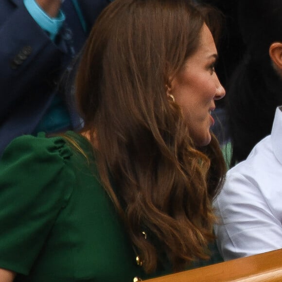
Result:
<svg viewBox="0 0 282 282"><path fill-rule="evenodd" d="M19 273L15 282L132 282L169 273L147 276L136 264L91 146L68 135L88 160L63 137L44 134L18 137L3 153L0 268Z"/></svg>

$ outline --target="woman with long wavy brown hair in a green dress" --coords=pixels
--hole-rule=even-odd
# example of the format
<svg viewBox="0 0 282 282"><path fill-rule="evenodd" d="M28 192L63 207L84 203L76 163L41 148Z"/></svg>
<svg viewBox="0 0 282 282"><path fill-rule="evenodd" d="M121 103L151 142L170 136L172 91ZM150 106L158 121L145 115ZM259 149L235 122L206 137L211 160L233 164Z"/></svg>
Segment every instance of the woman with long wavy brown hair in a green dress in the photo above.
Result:
<svg viewBox="0 0 282 282"><path fill-rule="evenodd" d="M1 159L1 281L125 282L208 258L225 174L212 15L185 0L102 12L76 76L83 131L19 137Z"/></svg>

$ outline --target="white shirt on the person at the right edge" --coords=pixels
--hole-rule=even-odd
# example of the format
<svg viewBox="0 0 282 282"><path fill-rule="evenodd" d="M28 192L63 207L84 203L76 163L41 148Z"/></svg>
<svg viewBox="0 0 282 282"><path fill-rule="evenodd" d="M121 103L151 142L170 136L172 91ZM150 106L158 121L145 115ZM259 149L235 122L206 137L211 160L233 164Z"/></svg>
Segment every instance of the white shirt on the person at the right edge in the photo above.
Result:
<svg viewBox="0 0 282 282"><path fill-rule="evenodd" d="M276 109L271 135L229 170L214 207L224 260L282 248L282 106Z"/></svg>

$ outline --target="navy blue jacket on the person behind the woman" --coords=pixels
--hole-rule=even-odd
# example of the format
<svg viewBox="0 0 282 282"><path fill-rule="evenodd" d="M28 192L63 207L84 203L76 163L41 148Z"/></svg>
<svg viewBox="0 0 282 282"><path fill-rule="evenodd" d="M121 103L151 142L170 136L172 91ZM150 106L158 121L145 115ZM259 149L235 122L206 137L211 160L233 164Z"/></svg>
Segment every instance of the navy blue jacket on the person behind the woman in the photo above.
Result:
<svg viewBox="0 0 282 282"><path fill-rule="evenodd" d="M78 1L89 29L111 2ZM71 56L65 44L54 44L38 26L23 0L1 0L0 6L1 155L12 139L34 132L53 101Z"/></svg>

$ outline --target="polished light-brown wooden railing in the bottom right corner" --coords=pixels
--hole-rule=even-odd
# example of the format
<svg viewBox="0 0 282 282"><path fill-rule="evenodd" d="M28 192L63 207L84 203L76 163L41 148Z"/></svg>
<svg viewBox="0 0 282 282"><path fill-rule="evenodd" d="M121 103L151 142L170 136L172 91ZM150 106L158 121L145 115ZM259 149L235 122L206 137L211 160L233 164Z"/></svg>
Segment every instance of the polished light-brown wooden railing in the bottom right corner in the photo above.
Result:
<svg viewBox="0 0 282 282"><path fill-rule="evenodd" d="M282 249L187 270L146 282L282 282Z"/></svg>

